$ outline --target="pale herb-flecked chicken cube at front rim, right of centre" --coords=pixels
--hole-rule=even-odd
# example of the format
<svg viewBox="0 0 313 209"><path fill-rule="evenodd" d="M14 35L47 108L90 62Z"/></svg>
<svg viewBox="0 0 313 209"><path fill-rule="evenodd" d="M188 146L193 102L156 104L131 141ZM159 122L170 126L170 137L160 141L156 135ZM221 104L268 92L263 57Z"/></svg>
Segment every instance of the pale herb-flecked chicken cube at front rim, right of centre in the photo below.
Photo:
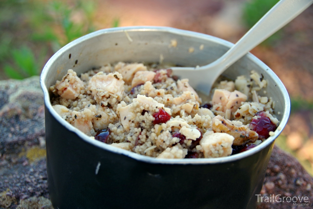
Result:
<svg viewBox="0 0 313 209"><path fill-rule="evenodd" d="M206 132L200 140L205 158L225 157L232 154L234 137L227 133Z"/></svg>

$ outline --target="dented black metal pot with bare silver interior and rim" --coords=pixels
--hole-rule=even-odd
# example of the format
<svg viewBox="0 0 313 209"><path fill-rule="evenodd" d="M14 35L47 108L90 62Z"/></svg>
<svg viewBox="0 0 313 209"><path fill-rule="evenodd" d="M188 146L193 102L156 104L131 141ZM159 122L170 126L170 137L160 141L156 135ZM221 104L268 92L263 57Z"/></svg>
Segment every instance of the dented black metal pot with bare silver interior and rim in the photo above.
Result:
<svg viewBox="0 0 313 209"><path fill-rule="evenodd" d="M172 39L177 47L169 47ZM200 45L204 45L200 50ZM257 71L268 81L259 94L272 97L280 120L274 136L228 157L155 159L92 140L52 108L49 86L68 69L79 75L117 61L206 65L233 44L167 27L123 27L85 35L60 49L45 65L44 91L48 188L54 208L255 208L275 138L285 127L290 99L275 73L247 54L223 73L230 79ZM193 53L188 49L194 48ZM195 76L201 76L195 74ZM280 114L279 114L280 113Z"/></svg>

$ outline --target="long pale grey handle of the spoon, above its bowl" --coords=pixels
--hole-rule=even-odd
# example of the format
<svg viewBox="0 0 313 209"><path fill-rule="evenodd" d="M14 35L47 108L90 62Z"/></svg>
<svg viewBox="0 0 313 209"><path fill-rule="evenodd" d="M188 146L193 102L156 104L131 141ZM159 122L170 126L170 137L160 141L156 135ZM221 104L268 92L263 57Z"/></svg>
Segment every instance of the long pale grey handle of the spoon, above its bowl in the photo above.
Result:
<svg viewBox="0 0 313 209"><path fill-rule="evenodd" d="M222 66L225 70L270 35L284 27L312 3L313 0L280 0L233 47L211 64L216 63L221 66L223 63Z"/></svg>

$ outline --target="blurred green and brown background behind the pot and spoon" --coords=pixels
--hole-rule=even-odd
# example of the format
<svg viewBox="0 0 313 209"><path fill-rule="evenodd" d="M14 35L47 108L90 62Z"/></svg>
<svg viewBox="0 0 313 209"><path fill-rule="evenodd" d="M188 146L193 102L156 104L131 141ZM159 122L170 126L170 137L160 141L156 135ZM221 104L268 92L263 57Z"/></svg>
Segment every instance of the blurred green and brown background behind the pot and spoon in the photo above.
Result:
<svg viewBox="0 0 313 209"><path fill-rule="evenodd" d="M40 75L62 46L98 29L156 25L237 42L278 0L1 0L0 80ZM275 144L313 176L313 6L251 51L285 84L291 115Z"/></svg>

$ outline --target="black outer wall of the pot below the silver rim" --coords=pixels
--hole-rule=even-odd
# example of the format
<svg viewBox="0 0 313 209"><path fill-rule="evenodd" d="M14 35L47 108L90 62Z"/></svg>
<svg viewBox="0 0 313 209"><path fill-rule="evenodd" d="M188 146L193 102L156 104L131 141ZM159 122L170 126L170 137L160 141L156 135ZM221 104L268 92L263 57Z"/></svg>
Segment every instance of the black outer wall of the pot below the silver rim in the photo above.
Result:
<svg viewBox="0 0 313 209"><path fill-rule="evenodd" d="M255 208L274 145L221 164L150 164L89 144L45 114L49 195L59 209Z"/></svg>

